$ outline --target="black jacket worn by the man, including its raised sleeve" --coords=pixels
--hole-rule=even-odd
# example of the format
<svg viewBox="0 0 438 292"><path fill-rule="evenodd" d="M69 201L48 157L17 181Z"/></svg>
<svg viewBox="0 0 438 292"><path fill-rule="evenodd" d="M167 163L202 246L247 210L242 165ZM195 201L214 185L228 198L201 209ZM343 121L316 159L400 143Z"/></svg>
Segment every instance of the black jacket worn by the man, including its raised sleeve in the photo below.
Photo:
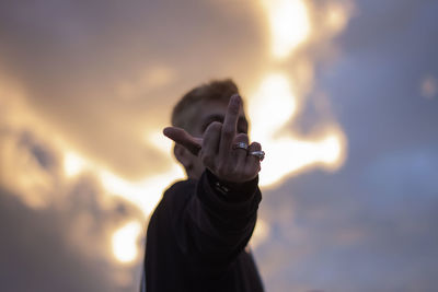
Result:
<svg viewBox="0 0 438 292"><path fill-rule="evenodd" d="M147 233L147 292L263 291L245 250L262 195L257 178L229 192L210 173L170 187Z"/></svg>

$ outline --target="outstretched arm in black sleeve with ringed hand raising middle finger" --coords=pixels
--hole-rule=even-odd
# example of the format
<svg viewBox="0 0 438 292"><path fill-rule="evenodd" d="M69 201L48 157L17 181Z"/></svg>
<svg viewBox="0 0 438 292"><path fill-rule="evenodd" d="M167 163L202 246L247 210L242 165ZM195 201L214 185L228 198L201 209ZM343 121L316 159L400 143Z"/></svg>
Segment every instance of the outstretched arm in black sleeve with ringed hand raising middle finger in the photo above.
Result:
<svg viewBox="0 0 438 292"><path fill-rule="evenodd" d="M210 124L201 139L176 127L164 129L165 136L198 155L206 166L196 190L192 190L195 196L178 203L181 209L172 219L176 241L189 260L229 264L254 230L261 165L247 151L260 151L261 145L253 142L247 151L233 148L249 140L246 135L237 135L241 105L241 97L232 96L223 125Z"/></svg>

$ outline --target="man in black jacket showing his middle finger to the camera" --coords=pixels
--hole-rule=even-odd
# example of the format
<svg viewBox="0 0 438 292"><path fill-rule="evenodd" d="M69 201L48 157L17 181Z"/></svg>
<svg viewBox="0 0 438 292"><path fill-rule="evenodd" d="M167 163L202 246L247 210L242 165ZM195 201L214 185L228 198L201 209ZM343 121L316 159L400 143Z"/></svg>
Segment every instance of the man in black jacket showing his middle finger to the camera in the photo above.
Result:
<svg viewBox="0 0 438 292"><path fill-rule="evenodd" d="M174 107L163 132L188 178L164 192L149 221L141 291L263 291L246 245L264 152L247 130L232 80L199 85Z"/></svg>

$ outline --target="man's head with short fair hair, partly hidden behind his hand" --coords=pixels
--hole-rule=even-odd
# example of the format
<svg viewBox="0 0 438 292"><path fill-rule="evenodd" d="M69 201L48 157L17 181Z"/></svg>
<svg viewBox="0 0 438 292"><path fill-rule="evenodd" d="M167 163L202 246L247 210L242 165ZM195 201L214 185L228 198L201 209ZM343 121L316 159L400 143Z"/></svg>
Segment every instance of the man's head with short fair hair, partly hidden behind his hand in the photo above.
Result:
<svg viewBox="0 0 438 292"><path fill-rule="evenodd" d="M211 81L187 92L172 112L172 126L186 130L194 137L203 137L212 121L223 122L231 95L239 93L230 80ZM240 113L237 132L247 133L247 121L243 109ZM175 144L174 154L184 166L189 178L199 178L205 166L201 161L182 145Z"/></svg>

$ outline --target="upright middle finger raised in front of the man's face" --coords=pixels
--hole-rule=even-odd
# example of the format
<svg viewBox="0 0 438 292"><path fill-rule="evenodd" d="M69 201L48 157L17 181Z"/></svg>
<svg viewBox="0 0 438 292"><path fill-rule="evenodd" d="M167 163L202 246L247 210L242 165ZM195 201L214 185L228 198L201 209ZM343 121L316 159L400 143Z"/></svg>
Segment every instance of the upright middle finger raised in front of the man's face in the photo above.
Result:
<svg viewBox="0 0 438 292"><path fill-rule="evenodd" d="M227 114L223 119L222 132L220 136L219 154L226 154L231 150L238 126L239 112L242 98L239 94L233 94L228 104Z"/></svg>

